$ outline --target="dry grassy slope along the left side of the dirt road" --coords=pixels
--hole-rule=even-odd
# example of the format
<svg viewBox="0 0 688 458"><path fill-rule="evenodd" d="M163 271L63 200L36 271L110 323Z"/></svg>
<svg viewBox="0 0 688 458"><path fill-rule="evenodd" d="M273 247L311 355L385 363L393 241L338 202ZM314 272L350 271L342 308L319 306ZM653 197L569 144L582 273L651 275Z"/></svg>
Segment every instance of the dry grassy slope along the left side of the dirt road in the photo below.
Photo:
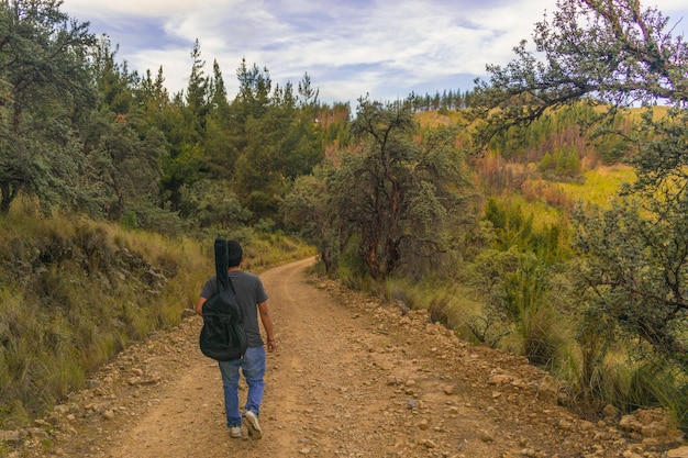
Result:
<svg viewBox="0 0 688 458"><path fill-rule="evenodd" d="M247 270L313 255L282 235L238 235ZM0 217L0 429L27 425L131 343L178 325L214 273L213 241L14 209Z"/></svg>

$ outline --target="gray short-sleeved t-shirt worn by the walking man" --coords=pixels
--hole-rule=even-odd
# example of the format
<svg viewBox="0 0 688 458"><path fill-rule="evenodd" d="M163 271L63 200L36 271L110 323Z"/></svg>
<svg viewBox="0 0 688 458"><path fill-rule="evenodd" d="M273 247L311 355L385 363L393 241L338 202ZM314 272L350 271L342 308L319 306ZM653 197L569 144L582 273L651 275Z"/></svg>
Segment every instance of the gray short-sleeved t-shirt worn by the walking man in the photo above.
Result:
<svg viewBox="0 0 688 458"><path fill-rule="evenodd" d="M244 316L244 329L246 331L246 340L249 347L262 347L263 337L260 337L260 328L258 326L258 304L267 301L267 294L263 288L260 278L256 275L245 272L243 270L230 271L230 280L234 284L236 300L242 308ZM212 298L218 292L218 278L212 276L203 284L201 297L206 299Z"/></svg>

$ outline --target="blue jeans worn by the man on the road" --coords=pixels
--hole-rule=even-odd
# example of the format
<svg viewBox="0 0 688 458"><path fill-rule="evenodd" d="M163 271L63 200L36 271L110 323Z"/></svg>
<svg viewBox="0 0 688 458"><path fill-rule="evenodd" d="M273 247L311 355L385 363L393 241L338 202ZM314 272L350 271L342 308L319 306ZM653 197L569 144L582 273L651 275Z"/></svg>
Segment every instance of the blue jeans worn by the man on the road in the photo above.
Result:
<svg viewBox="0 0 688 458"><path fill-rule="evenodd" d="M226 426L232 427L242 424L242 415L238 412L238 368L246 379L248 395L245 411L260 414L260 402L265 390L265 348L248 347L243 359L234 361L219 361L222 373L222 387L224 388L224 410L226 412Z"/></svg>

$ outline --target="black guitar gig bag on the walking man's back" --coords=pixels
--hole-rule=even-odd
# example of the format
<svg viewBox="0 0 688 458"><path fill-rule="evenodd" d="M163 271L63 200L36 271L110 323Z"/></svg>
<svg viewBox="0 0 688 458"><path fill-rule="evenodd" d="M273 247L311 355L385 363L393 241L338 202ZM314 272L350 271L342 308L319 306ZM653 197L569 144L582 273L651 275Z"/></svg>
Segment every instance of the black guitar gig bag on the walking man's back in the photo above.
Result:
<svg viewBox="0 0 688 458"><path fill-rule="evenodd" d="M203 303L201 351L218 361L241 359L248 346L242 310L228 273L229 249L223 237L215 238L215 275L218 292Z"/></svg>

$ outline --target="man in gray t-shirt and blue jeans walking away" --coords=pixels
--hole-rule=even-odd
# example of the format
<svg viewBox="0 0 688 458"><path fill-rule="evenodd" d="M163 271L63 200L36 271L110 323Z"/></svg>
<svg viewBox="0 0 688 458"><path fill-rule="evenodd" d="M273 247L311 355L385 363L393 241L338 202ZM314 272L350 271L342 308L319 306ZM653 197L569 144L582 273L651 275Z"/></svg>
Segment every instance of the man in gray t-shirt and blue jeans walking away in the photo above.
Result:
<svg viewBox="0 0 688 458"><path fill-rule="evenodd" d="M273 321L267 306L267 294L263 288L263 282L258 276L241 270L244 261L244 252L236 241L228 241L229 248L229 277L234 286L236 301L238 302L244 319L246 340L248 348L242 359L234 361L218 361L220 373L222 375L222 386L224 388L224 407L226 412L226 426L230 428L231 437L242 436L242 423L246 426L248 436L254 439L263 437L263 431L258 423L260 414L260 403L265 389L265 348L260 329L258 327L258 314L263 322L263 327L267 334L267 350L273 353L277 348L275 345L275 334L273 332ZM196 301L196 313L203 316L203 303L218 292L218 279L215 276L206 281L201 294ZM241 368L248 394L244 406L243 416L238 411L238 369Z"/></svg>

